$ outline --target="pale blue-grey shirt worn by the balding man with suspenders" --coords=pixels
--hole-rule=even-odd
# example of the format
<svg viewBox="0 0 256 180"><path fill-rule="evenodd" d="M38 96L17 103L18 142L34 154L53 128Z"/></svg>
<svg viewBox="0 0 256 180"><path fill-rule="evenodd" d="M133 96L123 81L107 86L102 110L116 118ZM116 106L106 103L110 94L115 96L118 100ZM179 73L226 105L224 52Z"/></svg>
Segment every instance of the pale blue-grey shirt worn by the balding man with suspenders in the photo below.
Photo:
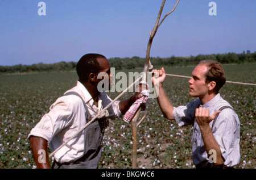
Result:
<svg viewBox="0 0 256 180"><path fill-rule="evenodd" d="M179 127L193 125L192 135L192 160L195 165L207 162L208 154L204 148L204 141L201 136L199 125L195 120L197 107L209 109L210 115L219 110L222 106L230 106L228 102L217 94L211 101L201 105L200 99L188 103L186 106L174 107L174 117ZM232 106L230 106L232 107ZM212 128L212 122L209 123ZM222 157L226 166L235 166L240 162L240 120L234 110L225 108L220 112L212 129L214 139L220 145Z"/></svg>

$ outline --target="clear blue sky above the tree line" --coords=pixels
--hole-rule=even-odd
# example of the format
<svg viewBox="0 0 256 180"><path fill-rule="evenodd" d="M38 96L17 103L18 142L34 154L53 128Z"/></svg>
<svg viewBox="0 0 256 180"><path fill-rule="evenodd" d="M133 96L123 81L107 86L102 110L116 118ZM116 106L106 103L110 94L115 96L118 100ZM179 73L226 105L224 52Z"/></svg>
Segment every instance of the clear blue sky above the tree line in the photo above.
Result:
<svg viewBox="0 0 256 180"><path fill-rule="evenodd" d="M39 15L39 2L46 15ZM216 15L209 15L210 2ZM163 16L176 0L167 0ZM1 0L0 65L79 61L86 53L146 57L162 0ZM151 57L256 51L256 0L180 0ZM40 9L40 12L42 9Z"/></svg>

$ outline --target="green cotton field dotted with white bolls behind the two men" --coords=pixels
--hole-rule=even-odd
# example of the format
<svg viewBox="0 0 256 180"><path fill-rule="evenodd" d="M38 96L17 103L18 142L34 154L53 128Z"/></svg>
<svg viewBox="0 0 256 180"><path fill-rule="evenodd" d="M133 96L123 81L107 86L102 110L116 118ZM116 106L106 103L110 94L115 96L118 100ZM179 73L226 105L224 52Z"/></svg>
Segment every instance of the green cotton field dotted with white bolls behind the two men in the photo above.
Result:
<svg viewBox="0 0 256 180"><path fill-rule="evenodd" d="M193 67L165 69L167 73L191 76ZM256 83L256 64L224 65L224 69L228 81ZM0 81L0 168L35 168L27 135L51 104L76 85L77 75L75 72L1 74ZM188 95L188 79L166 77L164 86L174 106L195 99ZM255 90L256 86L226 83L220 91L241 122L241 162L237 168L256 168ZM108 93L112 99L118 94ZM131 95L126 93L119 100ZM148 114L137 129L138 168L195 168L191 158L192 127L179 128L175 121L164 118L156 99L148 99L146 106ZM99 168L131 168L131 124L122 119L113 122L114 126L105 131Z"/></svg>

